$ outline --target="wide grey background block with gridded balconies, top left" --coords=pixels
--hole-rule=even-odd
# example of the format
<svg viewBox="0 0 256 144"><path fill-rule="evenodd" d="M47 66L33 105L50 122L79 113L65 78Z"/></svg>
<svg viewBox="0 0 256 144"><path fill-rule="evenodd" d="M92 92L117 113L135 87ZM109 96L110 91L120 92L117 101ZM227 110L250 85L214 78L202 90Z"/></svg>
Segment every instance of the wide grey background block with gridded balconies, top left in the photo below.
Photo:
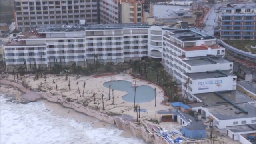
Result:
<svg viewBox="0 0 256 144"><path fill-rule="evenodd" d="M16 28L33 30L38 26L99 23L98 0L14 0Z"/></svg>

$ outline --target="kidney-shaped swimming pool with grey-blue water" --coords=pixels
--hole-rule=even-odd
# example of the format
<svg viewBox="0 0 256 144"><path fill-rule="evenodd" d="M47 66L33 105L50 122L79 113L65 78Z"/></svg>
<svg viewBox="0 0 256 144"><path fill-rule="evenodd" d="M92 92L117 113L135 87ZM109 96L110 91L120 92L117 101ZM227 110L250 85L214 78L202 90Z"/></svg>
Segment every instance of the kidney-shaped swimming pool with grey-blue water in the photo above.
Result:
<svg viewBox="0 0 256 144"><path fill-rule="evenodd" d="M134 102L134 87L132 87L132 83L125 80L116 80L105 82L103 85L109 88L111 84L110 95L112 95L112 89L125 91L128 94L122 96L122 99L126 102ZM115 94L115 92L114 92ZM150 86L138 86L136 88L136 103L150 102L155 98L155 91Z"/></svg>

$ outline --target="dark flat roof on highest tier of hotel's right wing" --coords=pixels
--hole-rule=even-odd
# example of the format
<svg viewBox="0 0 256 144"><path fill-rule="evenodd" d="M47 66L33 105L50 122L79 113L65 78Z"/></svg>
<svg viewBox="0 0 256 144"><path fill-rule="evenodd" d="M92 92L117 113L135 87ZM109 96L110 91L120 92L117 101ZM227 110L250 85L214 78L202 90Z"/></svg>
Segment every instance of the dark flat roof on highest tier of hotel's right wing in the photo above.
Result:
<svg viewBox="0 0 256 144"><path fill-rule="evenodd" d="M199 33L192 32L191 30L168 30L168 31L174 33L174 34L170 34L170 36L174 38L178 38L181 41L215 39L212 36L203 36Z"/></svg>

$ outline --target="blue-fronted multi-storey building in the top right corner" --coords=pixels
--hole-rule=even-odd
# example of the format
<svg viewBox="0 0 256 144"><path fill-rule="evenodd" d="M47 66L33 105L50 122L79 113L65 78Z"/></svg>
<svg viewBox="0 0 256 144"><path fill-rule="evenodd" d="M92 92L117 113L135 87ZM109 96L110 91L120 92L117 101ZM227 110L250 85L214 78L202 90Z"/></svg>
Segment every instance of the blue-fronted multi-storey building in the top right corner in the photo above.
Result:
<svg viewBox="0 0 256 144"><path fill-rule="evenodd" d="M225 4L221 9L220 39L255 40L255 3Z"/></svg>

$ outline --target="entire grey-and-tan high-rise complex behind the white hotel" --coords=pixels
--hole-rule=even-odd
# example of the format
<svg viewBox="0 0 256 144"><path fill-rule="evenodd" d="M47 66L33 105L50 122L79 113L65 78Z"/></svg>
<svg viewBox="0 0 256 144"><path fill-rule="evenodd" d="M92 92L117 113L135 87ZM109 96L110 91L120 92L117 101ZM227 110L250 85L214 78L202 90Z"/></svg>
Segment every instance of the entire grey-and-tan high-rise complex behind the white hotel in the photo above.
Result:
<svg viewBox="0 0 256 144"><path fill-rule="evenodd" d="M145 0L14 0L18 30L42 25L136 23L152 17L152 4Z"/></svg>

